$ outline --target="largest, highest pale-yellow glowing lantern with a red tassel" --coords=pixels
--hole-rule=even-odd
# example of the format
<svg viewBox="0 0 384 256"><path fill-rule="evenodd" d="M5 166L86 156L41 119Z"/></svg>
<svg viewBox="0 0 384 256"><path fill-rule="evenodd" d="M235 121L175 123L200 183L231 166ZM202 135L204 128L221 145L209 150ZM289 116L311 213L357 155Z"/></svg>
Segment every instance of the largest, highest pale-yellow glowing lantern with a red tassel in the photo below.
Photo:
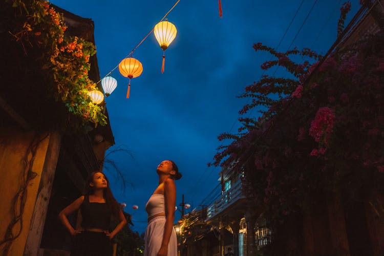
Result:
<svg viewBox="0 0 384 256"><path fill-rule="evenodd" d="M159 42L160 48L163 50L163 64L161 66L161 73L164 73L165 63L165 50L170 43L175 39L177 29L175 25L165 20L165 22L159 22L154 28L154 34L156 40Z"/></svg>

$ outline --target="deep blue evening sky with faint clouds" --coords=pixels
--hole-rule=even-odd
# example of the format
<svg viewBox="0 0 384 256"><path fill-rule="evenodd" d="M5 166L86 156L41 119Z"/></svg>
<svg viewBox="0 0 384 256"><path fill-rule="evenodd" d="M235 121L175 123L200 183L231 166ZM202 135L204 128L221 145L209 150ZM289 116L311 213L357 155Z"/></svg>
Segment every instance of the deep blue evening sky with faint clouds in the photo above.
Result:
<svg viewBox="0 0 384 256"><path fill-rule="evenodd" d="M95 42L100 76L114 69L151 31L175 1L51 0L51 3L95 23ZM352 0L348 20L360 8ZM282 41L285 52L313 9L292 47L311 48L325 54L336 39L339 0L222 0L219 17L217 0L181 0L168 14L178 32L165 51L165 72L161 74L162 50L151 34L138 47L134 57L143 73L131 81L116 69L112 76L117 89L106 99L116 145L131 155L109 156L129 182L125 190L113 168L105 169L112 190L125 211L133 215L133 230L146 227L147 199L158 185L156 166L165 159L175 161L181 180L176 181L177 204L184 194L190 209L199 207L218 184L219 167L207 167L222 144L217 136L236 133L238 111L247 99L236 96L262 75L260 65L270 60L256 53L257 42L276 47L298 7L297 16ZM346 24L347 24L346 23ZM268 73L267 73L268 74ZM279 71L276 73L279 74ZM257 111L252 112L257 117ZM132 205L138 205L137 210ZM187 212L190 209L186 210ZM176 213L176 220L180 212ZM175 220L175 221L176 221Z"/></svg>

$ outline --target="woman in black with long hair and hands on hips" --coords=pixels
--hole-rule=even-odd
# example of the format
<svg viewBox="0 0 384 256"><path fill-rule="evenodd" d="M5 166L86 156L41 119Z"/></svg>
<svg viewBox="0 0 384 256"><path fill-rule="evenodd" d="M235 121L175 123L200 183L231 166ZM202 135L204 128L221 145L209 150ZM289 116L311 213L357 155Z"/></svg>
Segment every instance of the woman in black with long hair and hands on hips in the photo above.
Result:
<svg viewBox="0 0 384 256"><path fill-rule="evenodd" d="M103 173L91 173L87 185L86 195L59 213L62 224L75 237L71 256L111 256L111 239L124 227L126 219ZM67 217L78 209L82 217L81 227L74 229ZM109 232L112 217L119 220L119 224Z"/></svg>

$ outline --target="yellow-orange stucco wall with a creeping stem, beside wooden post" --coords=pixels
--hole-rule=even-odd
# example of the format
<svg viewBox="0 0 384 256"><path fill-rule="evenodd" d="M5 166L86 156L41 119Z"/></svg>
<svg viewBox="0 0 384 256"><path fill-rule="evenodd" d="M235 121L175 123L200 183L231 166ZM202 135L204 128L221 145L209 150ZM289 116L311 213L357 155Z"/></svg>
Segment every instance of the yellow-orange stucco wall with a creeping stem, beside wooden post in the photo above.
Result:
<svg viewBox="0 0 384 256"><path fill-rule="evenodd" d="M26 153L33 139L36 138L34 132L25 132L17 129L0 129L0 240L4 240L8 225L13 219L13 200L20 186L23 184L23 173L26 169L24 160ZM36 177L32 179L26 190L25 207L22 216L23 227L18 238L16 238L10 247L8 255L23 255L25 244L31 225L32 214L34 212L36 196L41 178L41 172L44 166L49 135L39 135L39 144L36 147L35 157L32 165L32 171ZM29 154L28 161L32 155ZM19 205L22 200L17 200L16 212L19 214ZM20 222L14 228L13 233L17 234L20 230ZM0 246L0 251L5 249L5 244Z"/></svg>

